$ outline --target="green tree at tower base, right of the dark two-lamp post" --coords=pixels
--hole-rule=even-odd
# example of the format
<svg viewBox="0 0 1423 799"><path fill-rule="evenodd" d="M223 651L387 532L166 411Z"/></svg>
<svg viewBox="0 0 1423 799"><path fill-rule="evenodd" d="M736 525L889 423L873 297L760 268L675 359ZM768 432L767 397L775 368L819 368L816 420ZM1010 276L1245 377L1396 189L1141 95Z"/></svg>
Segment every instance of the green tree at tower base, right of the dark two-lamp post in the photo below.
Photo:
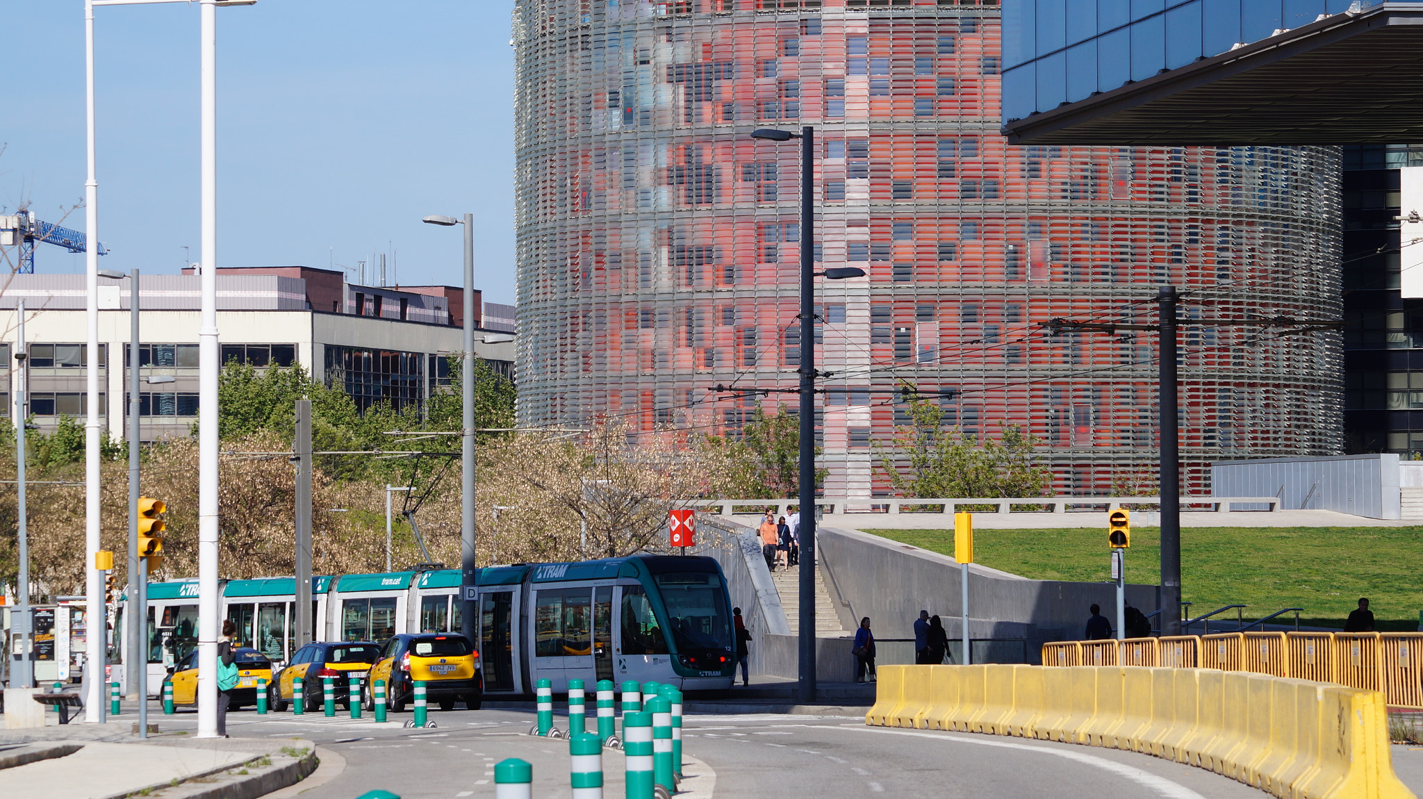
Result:
<svg viewBox="0 0 1423 799"><path fill-rule="evenodd" d="M1052 472L1033 463L1042 442L1017 425L999 424L998 441L942 427L943 409L911 400L909 425L895 428L894 446L875 442L879 469L901 496L1042 496Z"/></svg>

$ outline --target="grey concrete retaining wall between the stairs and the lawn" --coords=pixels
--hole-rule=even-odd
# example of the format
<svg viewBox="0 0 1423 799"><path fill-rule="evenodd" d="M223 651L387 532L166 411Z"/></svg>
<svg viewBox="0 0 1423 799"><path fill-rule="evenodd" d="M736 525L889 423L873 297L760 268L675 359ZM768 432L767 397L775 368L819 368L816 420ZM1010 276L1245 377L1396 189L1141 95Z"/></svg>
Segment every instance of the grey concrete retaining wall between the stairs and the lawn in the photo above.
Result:
<svg viewBox="0 0 1423 799"><path fill-rule="evenodd" d="M962 637L959 563L952 557L835 527L820 527L815 542L832 597L848 603L855 620L868 616L875 637L912 638L919 610L941 616L949 638ZM1103 566L1107 557L1103 546ZM1127 604L1141 613L1154 613L1158 601L1157 586L1127 586ZM1093 603L1116 624L1117 594L1109 583L1029 580L969 566L969 637L1027 638L1030 663L1039 663L1044 643L1080 638Z"/></svg>

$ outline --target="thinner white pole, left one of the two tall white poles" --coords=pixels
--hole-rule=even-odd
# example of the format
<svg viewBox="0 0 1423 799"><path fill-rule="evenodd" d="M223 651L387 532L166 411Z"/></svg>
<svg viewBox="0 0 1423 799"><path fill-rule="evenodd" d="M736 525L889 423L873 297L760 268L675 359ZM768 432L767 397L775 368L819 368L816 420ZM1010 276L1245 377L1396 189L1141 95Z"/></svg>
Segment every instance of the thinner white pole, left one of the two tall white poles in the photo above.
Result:
<svg viewBox="0 0 1423 799"><path fill-rule="evenodd" d="M94 1L84 0L84 111L88 176L84 181L84 294L88 323L88 412L84 419L84 576L88 654L84 678L84 721L104 721L104 644L108 624L104 614L104 573L94 567L100 549L98 496L98 178L94 158Z"/></svg>

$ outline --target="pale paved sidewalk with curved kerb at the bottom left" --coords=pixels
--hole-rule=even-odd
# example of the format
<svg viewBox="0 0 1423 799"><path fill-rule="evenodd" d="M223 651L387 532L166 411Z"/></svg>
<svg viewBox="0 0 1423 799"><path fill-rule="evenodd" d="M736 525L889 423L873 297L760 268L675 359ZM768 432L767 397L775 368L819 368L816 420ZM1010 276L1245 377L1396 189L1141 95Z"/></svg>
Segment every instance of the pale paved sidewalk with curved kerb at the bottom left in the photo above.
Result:
<svg viewBox="0 0 1423 799"><path fill-rule="evenodd" d="M122 799L157 790L164 799L252 799L316 769L310 741L195 739L181 732L141 739L131 721L0 731L0 746L11 756L50 755L0 769L7 796L46 799Z"/></svg>

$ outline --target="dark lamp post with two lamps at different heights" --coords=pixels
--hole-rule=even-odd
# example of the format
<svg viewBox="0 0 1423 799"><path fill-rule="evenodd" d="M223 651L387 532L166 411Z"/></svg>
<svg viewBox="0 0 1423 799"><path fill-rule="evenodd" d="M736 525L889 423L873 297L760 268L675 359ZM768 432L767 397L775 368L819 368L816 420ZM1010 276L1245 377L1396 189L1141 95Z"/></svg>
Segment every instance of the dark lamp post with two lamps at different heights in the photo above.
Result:
<svg viewBox="0 0 1423 799"><path fill-rule="evenodd" d="M815 272L815 128L800 134L760 128L751 138L784 142L801 141L800 179L800 701L815 701L815 281L862 277L855 267Z"/></svg>

